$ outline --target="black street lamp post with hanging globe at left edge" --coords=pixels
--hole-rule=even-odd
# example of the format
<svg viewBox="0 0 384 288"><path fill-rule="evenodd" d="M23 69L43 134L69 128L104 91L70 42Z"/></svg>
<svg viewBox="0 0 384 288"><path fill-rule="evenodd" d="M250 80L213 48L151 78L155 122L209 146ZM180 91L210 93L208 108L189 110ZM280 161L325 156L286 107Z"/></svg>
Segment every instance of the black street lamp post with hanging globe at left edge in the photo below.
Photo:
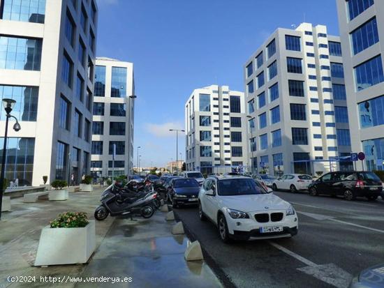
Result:
<svg viewBox="0 0 384 288"><path fill-rule="evenodd" d="M6 132L4 134L4 145L3 145L3 158L1 159L1 174L0 174L0 219L1 219L1 205L3 204L3 184L4 184L4 175L6 174L6 156L7 156L7 137L8 137L8 121L10 117L16 120L16 123L13 125L13 130L16 132L21 129L19 121L15 116L12 116L10 112L12 112L13 107L15 107L16 101L13 99L4 98L3 106L6 110Z"/></svg>

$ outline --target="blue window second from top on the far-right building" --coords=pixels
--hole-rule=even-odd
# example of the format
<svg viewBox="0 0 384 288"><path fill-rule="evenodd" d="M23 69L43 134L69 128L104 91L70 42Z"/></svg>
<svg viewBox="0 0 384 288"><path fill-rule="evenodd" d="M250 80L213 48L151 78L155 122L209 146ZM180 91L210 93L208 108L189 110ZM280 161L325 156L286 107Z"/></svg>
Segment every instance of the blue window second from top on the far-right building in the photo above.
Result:
<svg viewBox="0 0 384 288"><path fill-rule="evenodd" d="M371 47L375 43L378 43L378 30L376 17L372 18L368 22L362 24L362 26L353 30L350 33L351 46L353 48L353 54L362 52L362 50Z"/></svg>

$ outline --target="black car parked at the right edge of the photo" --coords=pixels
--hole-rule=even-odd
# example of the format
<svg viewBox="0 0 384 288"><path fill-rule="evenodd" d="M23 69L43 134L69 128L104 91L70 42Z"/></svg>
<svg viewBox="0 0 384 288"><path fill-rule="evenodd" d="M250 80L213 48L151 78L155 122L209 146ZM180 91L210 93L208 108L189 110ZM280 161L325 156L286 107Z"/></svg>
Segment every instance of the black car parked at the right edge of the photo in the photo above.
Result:
<svg viewBox="0 0 384 288"><path fill-rule="evenodd" d="M309 194L344 196L347 200L366 197L376 200L383 183L374 172L329 172L309 185Z"/></svg>

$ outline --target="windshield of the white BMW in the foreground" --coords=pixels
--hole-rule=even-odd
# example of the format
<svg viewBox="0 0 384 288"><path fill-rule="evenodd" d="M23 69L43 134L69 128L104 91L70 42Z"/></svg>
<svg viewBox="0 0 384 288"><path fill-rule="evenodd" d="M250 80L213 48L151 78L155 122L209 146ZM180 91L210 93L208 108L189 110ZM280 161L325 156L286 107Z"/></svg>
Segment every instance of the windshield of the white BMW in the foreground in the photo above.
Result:
<svg viewBox="0 0 384 288"><path fill-rule="evenodd" d="M218 183L218 194L221 196L265 194L253 179L226 179Z"/></svg>

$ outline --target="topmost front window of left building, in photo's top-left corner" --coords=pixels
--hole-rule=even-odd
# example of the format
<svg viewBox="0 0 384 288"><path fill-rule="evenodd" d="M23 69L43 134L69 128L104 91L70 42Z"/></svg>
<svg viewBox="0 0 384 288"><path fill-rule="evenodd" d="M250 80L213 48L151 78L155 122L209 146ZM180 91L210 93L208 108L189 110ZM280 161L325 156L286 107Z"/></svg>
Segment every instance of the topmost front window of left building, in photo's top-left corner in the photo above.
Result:
<svg viewBox="0 0 384 288"><path fill-rule="evenodd" d="M1 19L44 23L45 0L3 0Z"/></svg>

